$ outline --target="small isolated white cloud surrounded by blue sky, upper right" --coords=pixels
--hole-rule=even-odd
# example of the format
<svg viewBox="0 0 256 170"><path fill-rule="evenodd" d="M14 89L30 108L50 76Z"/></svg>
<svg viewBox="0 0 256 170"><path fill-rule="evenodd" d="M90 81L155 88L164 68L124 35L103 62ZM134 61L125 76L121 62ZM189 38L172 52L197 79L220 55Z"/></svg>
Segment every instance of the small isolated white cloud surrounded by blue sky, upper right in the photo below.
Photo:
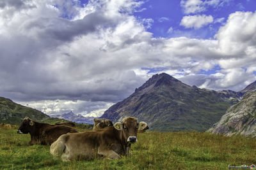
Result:
<svg viewBox="0 0 256 170"><path fill-rule="evenodd" d="M213 22L213 17L211 15L189 15L184 16L180 22L180 25L186 27L186 28L194 28L194 29L200 29L201 27L204 27L205 25L208 25Z"/></svg>

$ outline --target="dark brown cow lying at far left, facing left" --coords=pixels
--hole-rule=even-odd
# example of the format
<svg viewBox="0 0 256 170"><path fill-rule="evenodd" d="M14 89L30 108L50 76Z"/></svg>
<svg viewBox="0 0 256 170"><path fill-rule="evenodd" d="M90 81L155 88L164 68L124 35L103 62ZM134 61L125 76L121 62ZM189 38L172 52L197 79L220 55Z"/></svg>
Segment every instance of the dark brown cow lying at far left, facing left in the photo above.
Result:
<svg viewBox="0 0 256 170"><path fill-rule="evenodd" d="M29 117L24 118L17 131L19 134L30 134L31 140L29 141L29 145L51 145L51 143L56 141L62 134L67 134L68 132L74 133L78 131L66 125L38 123L31 120Z"/></svg>

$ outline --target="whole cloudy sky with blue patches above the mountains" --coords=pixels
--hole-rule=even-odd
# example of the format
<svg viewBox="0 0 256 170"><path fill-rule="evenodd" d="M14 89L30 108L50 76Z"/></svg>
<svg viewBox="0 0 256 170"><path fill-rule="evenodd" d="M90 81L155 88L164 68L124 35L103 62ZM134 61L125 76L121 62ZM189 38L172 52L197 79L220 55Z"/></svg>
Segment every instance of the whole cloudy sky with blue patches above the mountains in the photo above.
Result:
<svg viewBox="0 0 256 170"><path fill-rule="evenodd" d="M0 96L100 115L156 73L213 90L256 80L254 0L1 0Z"/></svg>

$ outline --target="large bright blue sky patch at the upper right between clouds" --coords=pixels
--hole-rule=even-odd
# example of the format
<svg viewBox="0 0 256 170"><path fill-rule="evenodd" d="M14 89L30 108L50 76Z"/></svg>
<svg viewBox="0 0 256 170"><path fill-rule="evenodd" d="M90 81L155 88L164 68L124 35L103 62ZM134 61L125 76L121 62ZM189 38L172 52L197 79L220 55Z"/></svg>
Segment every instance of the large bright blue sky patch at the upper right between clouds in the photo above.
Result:
<svg viewBox="0 0 256 170"><path fill-rule="evenodd" d="M186 2L186 1L184 1ZM213 39L220 27L227 21L228 15L236 11L255 11L256 1L220 1L218 5L207 4L209 1L202 1L204 11L195 13L186 13L178 0L148 0L141 6L141 9L134 15L138 18L152 18L154 22L147 31L152 32L155 38L179 37L188 38L207 38ZM184 27L180 22L185 16L205 15L212 16L211 23L198 29L193 27Z"/></svg>

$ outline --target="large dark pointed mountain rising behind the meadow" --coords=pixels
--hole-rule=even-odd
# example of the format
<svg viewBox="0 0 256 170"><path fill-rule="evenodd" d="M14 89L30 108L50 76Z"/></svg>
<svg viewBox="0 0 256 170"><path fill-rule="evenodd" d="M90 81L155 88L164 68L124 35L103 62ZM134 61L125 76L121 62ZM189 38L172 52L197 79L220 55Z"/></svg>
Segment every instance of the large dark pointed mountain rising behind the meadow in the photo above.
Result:
<svg viewBox="0 0 256 170"><path fill-rule="evenodd" d="M128 116L136 117L155 131L206 131L232 103L238 102L232 99L214 90L191 87L161 73L111 106L100 118L116 122Z"/></svg>

